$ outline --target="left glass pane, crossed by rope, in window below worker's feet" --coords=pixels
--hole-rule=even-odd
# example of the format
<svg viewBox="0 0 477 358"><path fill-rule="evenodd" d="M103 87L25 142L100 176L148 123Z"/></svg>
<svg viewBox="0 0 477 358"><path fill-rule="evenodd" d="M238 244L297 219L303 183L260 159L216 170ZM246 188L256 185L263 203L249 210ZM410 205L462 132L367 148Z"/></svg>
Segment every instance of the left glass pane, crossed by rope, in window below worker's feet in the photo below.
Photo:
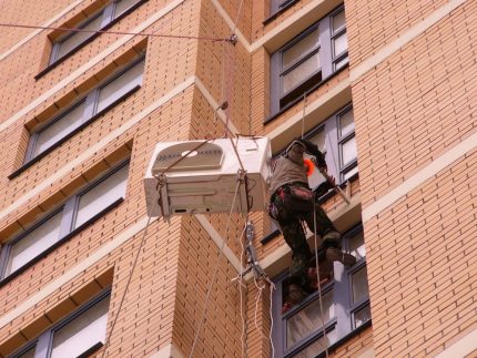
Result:
<svg viewBox="0 0 477 358"><path fill-rule="evenodd" d="M335 316L333 290L323 295L323 314L325 323ZM293 346L311 333L316 331L319 327L323 327L323 325L318 297L287 319L286 346Z"/></svg>

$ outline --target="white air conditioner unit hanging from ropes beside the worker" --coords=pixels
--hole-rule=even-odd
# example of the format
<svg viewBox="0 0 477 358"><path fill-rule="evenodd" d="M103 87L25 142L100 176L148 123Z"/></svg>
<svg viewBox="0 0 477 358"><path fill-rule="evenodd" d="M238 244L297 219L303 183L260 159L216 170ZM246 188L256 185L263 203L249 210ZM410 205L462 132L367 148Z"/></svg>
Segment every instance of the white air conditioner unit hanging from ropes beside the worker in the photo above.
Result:
<svg viewBox="0 0 477 358"><path fill-rule="evenodd" d="M246 213L247 203L251 212L263 211L270 163L263 136L158 143L144 177L148 215Z"/></svg>

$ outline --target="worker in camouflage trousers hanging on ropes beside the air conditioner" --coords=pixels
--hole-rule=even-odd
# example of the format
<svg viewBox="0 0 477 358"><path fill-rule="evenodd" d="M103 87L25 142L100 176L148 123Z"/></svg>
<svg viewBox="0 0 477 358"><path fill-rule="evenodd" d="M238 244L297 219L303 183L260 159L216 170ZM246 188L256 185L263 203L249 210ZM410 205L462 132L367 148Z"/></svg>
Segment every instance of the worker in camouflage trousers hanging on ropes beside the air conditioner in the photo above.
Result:
<svg viewBox="0 0 477 358"><path fill-rule="evenodd" d="M315 232L316 219L316 233L321 237L318 247L322 246L327 260L353 266L356 258L341 250L341 234L317 201L318 196L333 187L334 178L332 183L319 185L315 195L308 186L304 153L315 156L316 165L327 170L325 157L315 144L303 139L293 141L275 162L270 186L268 214L278 223L283 237L292 249L290 276L295 278L294 283L307 286L312 252L306 242L303 222Z"/></svg>

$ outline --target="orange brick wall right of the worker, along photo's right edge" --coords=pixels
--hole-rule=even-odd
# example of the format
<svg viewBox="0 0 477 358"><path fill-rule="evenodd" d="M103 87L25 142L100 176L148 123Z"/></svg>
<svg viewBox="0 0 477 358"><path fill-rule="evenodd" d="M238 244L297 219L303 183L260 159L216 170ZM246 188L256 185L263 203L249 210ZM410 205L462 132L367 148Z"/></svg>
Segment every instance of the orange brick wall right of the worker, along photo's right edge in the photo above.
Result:
<svg viewBox="0 0 477 358"><path fill-rule="evenodd" d="M352 71L444 4L347 1ZM408 186L476 133L476 11L464 2L352 85L364 211L399 191L364 225L378 357L434 356L476 324L476 151Z"/></svg>

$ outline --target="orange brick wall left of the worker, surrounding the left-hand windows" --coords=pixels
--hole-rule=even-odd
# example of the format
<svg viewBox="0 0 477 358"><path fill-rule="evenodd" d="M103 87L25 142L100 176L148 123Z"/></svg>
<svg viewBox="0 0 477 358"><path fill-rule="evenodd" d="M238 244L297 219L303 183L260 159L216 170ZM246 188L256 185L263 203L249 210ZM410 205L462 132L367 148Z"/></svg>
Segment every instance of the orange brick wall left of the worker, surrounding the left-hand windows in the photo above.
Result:
<svg viewBox="0 0 477 358"><path fill-rule="evenodd" d="M0 14L0 20L43 23L71 3L72 1L57 1L49 7L34 4L20 17L20 3L8 1L3 3L8 10ZM231 29L220 10L224 10L235 21L240 6L238 1L224 0L149 0L114 24L112 30L131 31L171 3L176 7L145 27L144 31L225 38L231 34ZM298 2L276 21L264 27L262 21L268 14L270 2L244 0L237 22L238 30L248 42L252 39L260 40L262 34L273 32L275 27L283 27L288 17L312 1ZM95 6L93 1L83 1L52 24L68 23L92 6ZM297 28L309 25L312 18L307 18ZM315 20L318 19L313 19ZM292 32L296 31L294 29ZM9 30L4 33L0 40L0 51L8 50L29 32ZM152 149L160 141L222 136L225 133L224 113L219 111L221 117L214 121L215 108L210 98L219 104L229 100L231 126L233 124L241 134L270 133L303 110L297 104L272 123L263 125L263 120L270 115L270 54L262 47L251 53L241 42L233 47L220 41L135 37L116 45L123 35L101 34L35 81L34 75L44 69L45 55L49 54L47 35L50 33L43 31L34 35L0 61L0 192L4 193L0 196L1 242L4 244L14 233L31 225L81 185L98 177L120 158L130 156L128 191L125 201L118 208L9 284L0 285L0 300L4 303L0 308L0 319L11 317L0 327L1 355L10 354L27 338L33 338L71 313L75 307L71 297L81 296L87 300L98 291L98 287L109 284L112 285L108 319L108 334L110 333L134 255L144 235L141 226L145 216L142 177ZM58 109L64 108L79 93L97 85L108 73L126 63L142 49L146 51L144 79L142 88L135 94L16 178L7 178L22 163L28 131L34 129L38 122L48 121ZM94 60L97 57L98 61ZM81 69L80 73L75 72L78 69ZM312 93L308 100L319 99L342 81L347 81L349 71L342 71ZM65 81L64 85L59 85L61 81ZM169 96L171 93L174 94L172 98ZM327 106L307 125L313 126L332 114L333 105L339 106ZM150 108L152 110L149 112ZM353 184L352 192L353 195L361 192L359 182ZM334 197L325 206L326 209L334 211L339 205L343 205L341 200ZM234 214L226 232L227 218L227 214L207 216L232 254L240 258L240 237L245 217ZM256 227L255 242L260 259L283 247L281 238L262 246L258 242L268 234L270 219L263 213L254 213L251 218ZM133 231L131 237L123 237L130 229ZM113 246L115 243L122 244ZM98 256L103 247L114 248ZM171 344L184 356L189 355L217 254L217 245L196 217L174 217L171 224L153 221L124 305L119 313L108 355L150 356ZM82 268L81 272L72 275L78 267ZM104 273L112 277L103 279ZM62 279L70 274L72 277L63 283ZM248 355L271 356L267 338L271 326L268 290L263 290L255 305L257 289L248 282L243 291L244 308L241 313L238 286L231 282L236 276L236 268L223 256L194 356L242 356L244 319L247 326L245 336ZM50 288L51 291L45 294ZM22 306L28 303L27 298L37 300ZM341 347L339 351L357 352L369 342L372 335L371 329L362 333Z"/></svg>

